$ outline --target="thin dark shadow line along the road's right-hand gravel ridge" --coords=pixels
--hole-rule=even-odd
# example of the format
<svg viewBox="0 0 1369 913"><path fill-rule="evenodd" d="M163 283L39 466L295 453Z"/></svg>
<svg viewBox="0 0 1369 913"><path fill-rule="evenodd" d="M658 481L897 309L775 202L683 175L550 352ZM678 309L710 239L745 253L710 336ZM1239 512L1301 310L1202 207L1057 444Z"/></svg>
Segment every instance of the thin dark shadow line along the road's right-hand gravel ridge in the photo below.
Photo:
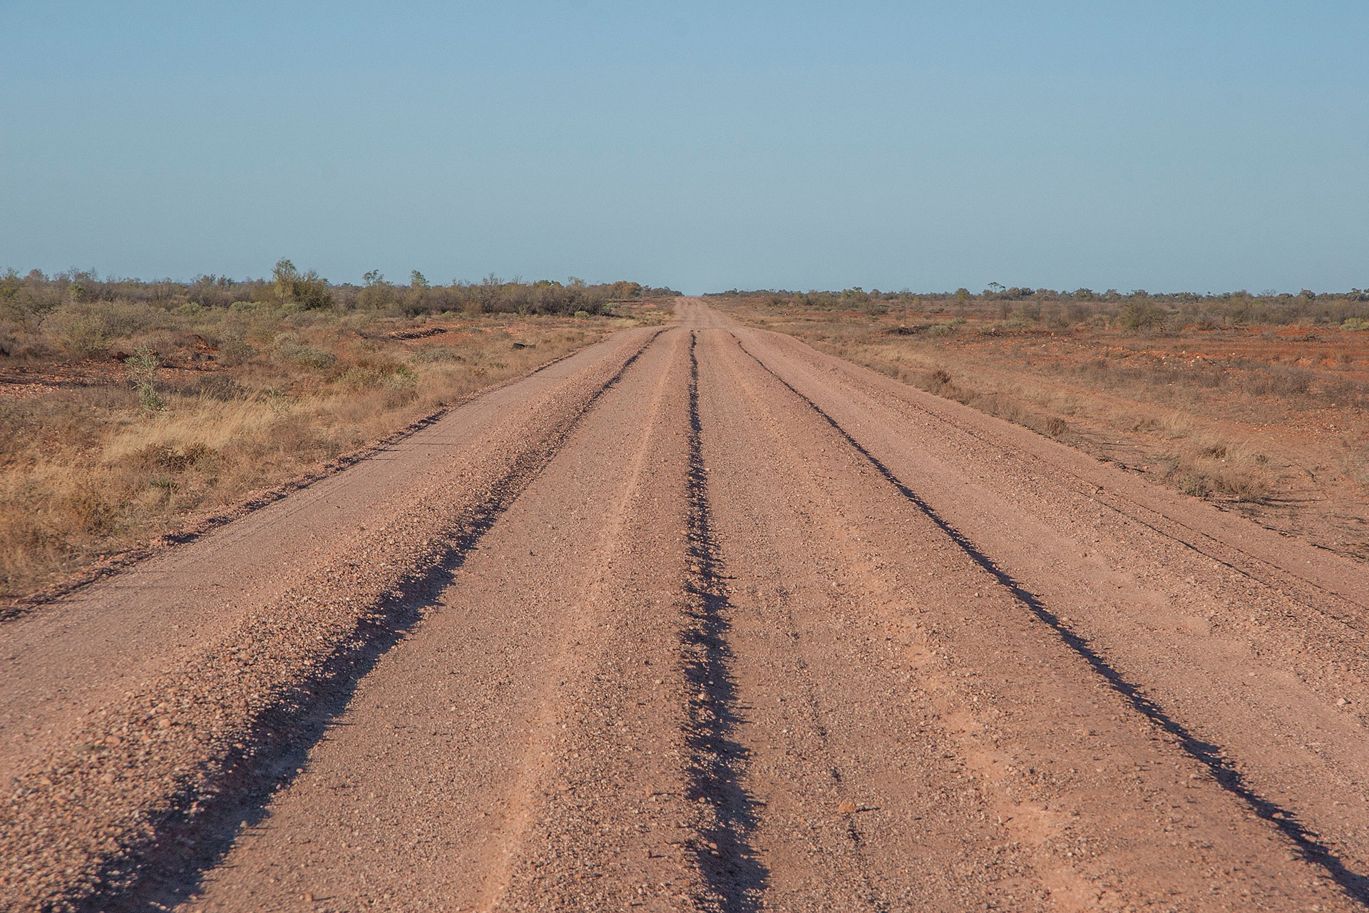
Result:
<svg viewBox="0 0 1369 913"><path fill-rule="evenodd" d="M734 339L735 339L734 334ZM1106 682L1108 687L1123 695L1134 710L1144 716L1157 728L1173 738L1175 743L1191 758L1202 764L1212 773L1212 779L1228 794L1239 799L1257 817L1270 823L1290 840L1295 851L1307 862L1320 866L1327 875L1348 895L1362 905L1369 905L1369 876L1348 869L1344 862L1321 843L1302 823L1296 814L1281 808L1268 797L1251 788L1239 771L1232 768L1227 753L1214 742L1206 741L1191 732L1180 721L1175 720L1162 706L1147 698L1140 687L1128 682L1116 668L1113 668L1088 639L1075 632L1060 616L1051 612L1045 602L1027 590L1019 580L1003 571L994 560L984 554L960 530L947 523L930 504L913 491L902 479L884 465L873 453L862 446L849 431L832 419L821 407L799 393L793 385L771 370L761 359L752 353L741 339L738 348L756 361L767 374L783 385L799 401L808 405L819 417L832 427L857 453L861 454L888 482L909 504L917 508L928 520L936 524L946 537L956 543L975 564L987 571L994 579L1008 590L1014 600L1027 606L1032 615L1045 623L1060 638L1065 646L1083 658L1088 667Z"/></svg>

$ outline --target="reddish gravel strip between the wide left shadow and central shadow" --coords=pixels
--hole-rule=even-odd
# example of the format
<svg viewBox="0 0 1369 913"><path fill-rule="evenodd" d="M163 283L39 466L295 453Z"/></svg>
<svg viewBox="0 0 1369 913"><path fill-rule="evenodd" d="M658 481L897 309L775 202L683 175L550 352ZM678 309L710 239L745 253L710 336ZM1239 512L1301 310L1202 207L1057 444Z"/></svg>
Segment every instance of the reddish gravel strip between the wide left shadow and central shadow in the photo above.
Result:
<svg viewBox="0 0 1369 913"><path fill-rule="evenodd" d="M188 908L712 897L680 657L687 344L668 330L571 435Z"/></svg>

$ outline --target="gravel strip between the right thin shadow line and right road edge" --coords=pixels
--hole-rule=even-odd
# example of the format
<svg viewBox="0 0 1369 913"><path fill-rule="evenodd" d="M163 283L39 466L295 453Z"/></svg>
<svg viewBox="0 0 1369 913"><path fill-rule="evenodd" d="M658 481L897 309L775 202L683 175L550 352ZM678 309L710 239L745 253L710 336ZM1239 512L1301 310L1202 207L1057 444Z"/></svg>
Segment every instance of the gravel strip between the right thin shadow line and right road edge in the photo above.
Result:
<svg viewBox="0 0 1369 913"><path fill-rule="evenodd" d="M942 519L1125 680L1221 746L1243 786L1369 872L1357 565L787 337L738 335L919 479Z"/></svg>

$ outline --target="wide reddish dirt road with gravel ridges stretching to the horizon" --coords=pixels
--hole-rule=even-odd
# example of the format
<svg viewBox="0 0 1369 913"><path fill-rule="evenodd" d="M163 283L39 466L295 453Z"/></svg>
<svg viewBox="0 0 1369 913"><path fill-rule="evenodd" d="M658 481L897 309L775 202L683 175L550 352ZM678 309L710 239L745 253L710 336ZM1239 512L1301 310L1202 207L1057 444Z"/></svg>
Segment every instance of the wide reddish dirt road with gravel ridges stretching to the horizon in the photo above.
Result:
<svg viewBox="0 0 1369 913"><path fill-rule="evenodd" d="M0 906L1362 909L1366 632L686 298L0 627Z"/></svg>

